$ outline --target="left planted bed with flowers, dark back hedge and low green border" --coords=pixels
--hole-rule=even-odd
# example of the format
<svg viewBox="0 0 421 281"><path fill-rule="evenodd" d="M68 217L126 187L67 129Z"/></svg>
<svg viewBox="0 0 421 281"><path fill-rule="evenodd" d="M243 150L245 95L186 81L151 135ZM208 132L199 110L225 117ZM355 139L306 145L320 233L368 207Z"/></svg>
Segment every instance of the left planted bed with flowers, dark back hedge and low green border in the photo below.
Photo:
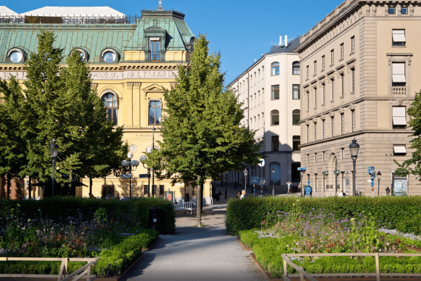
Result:
<svg viewBox="0 0 421 281"><path fill-rule="evenodd" d="M156 231L145 229L149 206L160 205L167 209L167 217L174 218L171 202L159 199L121 202L58 197L46 200L51 206L63 203L59 210L54 207L49 210L43 201L0 203L3 205L0 256L99 256L92 273L105 276L110 263L110 275L118 275L139 257L142 248L150 246L158 237ZM174 222L171 227L167 221L167 229L173 229ZM69 271L81 265L70 262ZM57 274L59 269L57 262L0 261L0 273Z"/></svg>

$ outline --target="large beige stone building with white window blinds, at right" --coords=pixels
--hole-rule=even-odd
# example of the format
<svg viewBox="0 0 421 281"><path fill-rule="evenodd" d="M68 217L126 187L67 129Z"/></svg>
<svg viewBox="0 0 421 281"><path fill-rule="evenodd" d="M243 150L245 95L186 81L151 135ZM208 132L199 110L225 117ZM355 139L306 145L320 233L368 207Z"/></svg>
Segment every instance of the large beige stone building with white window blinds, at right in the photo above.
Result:
<svg viewBox="0 0 421 281"><path fill-rule="evenodd" d="M347 0L301 37L301 166L313 195L351 195L353 138L356 190L421 193L415 177L394 174L394 160L411 157L406 110L421 88L420 28L421 1ZM381 173L373 191L370 166Z"/></svg>

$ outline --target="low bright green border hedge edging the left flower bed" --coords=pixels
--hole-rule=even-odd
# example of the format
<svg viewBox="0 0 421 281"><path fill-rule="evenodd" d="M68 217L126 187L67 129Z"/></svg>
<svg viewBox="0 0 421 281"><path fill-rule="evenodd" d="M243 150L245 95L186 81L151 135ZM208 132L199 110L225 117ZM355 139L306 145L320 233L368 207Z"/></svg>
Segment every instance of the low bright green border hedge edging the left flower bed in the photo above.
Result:
<svg viewBox="0 0 421 281"><path fill-rule="evenodd" d="M110 275L119 275L139 256L142 248L149 247L158 238L158 232L145 229L135 236L121 240L117 245L99 254L98 262L92 267L92 274L106 276L108 263ZM68 271L72 273L86 264L81 261L69 261ZM60 261L0 261L2 274L59 274Z"/></svg>

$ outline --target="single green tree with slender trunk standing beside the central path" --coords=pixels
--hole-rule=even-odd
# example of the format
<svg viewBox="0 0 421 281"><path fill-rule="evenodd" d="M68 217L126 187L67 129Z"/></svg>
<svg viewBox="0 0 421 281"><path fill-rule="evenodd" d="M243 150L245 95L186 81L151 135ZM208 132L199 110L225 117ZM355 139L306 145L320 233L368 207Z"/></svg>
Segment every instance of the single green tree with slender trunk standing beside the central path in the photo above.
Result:
<svg viewBox="0 0 421 281"><path fill-rule="evenodd" d="M240 125L244 117L233 90L224 89L220 54L210 54L208 41L199 35L191 64L178 66L176 85L164 91L160 151L148 164L164 170L167 178L197 181L197 220L200 227L203 183L225 171L256 164L259 146L254 132Z"/></svg>

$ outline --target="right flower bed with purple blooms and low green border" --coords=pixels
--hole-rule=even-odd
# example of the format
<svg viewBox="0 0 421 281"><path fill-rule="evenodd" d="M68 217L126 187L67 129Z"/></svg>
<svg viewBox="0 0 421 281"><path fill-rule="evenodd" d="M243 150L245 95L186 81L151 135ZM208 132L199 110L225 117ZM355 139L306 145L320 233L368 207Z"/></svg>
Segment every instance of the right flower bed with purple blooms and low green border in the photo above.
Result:
<svg viewBox="0 0 421 281"><path fill-rule="evenodd" d="M282 253L352 253L352 252L414 252L407 246L420 248L421 241L379 232L386 228L371 213L341 218L335 211L312 208L303 212L300 200L291 204L288 212L267 213L260 229L242 230L241 241L253 248L260 265L273 278L283 272ZM374 257L291 257L308 273L375 272ZM379 258L380 271L392 273L421 273L420 257ZM297 273L291 266L289 274Z"/></svg>

